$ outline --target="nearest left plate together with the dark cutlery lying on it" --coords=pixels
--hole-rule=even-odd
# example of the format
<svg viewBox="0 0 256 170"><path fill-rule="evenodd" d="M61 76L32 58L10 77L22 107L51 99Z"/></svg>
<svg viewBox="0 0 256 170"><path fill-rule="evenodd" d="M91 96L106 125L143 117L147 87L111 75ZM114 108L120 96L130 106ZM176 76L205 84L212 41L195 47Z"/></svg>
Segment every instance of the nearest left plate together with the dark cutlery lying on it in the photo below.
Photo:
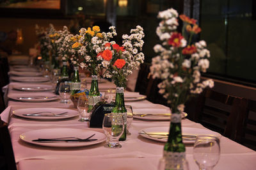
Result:
<svg viewBox="0 0 256 170"><path fill-rule="evenodd" d="M106 135L81 128L45 128L20 134L20 139L40 146L71 148L102 143Z"/></svg>

